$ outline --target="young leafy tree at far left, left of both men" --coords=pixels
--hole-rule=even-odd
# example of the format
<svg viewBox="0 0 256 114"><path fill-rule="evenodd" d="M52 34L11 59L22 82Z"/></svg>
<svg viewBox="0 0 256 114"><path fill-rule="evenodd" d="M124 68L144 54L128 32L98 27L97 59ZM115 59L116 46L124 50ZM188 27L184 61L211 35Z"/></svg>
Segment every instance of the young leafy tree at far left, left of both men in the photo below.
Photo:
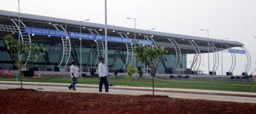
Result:
<svg viewBox="0 0 256 114"><path fill-rule="evenodd" d="M4 43L6 44L7 50L12 53L11 58L15 63L15 66L18 68L19 75L21 74L21 68L26 67L28 65L30 68L30 64L41 61L42 56L45 52L48 51L47 48L36 46L35 43L27 44L23 41L18 41L12 35L6 35L4 38ZM30 51L30 54L25 56ZM37 55L39 54L39 55ZM19 55L24 55L24 57L19 57ZM33 60L32 62L30 62ZM21 76L19 76L19 80L21 82L22 89L22 81Z"/></svg>

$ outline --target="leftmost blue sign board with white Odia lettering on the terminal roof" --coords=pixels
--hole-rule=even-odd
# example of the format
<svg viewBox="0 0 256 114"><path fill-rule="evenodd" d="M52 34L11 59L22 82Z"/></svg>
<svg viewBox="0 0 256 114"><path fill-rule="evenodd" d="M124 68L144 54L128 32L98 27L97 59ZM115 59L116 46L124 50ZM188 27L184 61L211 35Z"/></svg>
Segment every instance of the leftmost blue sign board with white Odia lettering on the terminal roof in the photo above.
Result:
<svg viewBox="0 0 256 114"><path fill-rule="evenodd" d="M50 36L66 37L65 31L42 29L42 28L32 28L32 27L25 27L25 33L36 34L36 35L50 35Z"/></svg>

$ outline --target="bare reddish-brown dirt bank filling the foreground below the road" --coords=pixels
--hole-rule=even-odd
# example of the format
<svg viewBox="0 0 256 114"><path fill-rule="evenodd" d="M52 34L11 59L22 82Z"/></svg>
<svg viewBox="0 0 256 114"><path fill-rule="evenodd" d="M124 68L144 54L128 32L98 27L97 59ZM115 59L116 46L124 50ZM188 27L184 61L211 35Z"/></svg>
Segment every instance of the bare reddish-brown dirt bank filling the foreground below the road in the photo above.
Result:
<svg viewBox="0 0 256 114"><path fill-rule="evenodd" d="M255 103L169 98L160 95L0 90L1 114L253 114Z"/></svg>

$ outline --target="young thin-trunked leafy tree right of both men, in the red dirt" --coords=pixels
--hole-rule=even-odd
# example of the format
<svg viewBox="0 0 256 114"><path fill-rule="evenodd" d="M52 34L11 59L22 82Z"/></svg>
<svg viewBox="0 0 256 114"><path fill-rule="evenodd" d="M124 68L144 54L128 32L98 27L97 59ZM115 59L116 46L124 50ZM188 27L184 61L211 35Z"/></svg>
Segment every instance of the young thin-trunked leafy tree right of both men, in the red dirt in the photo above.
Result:
<svg viewBox="0 0 256 114"><path fill-rule="evenodd" d="M155 69L158 67L162 58L167 61L165 54L168 53L165 50L165 47L152 47L152 46L142 46L138 45L134 47L133 52L135 53L135 57L139 58L139 61L148 66L154 74ZM152 76L152 87L153 87L153 95L154 95L154 76Z"/></svg>

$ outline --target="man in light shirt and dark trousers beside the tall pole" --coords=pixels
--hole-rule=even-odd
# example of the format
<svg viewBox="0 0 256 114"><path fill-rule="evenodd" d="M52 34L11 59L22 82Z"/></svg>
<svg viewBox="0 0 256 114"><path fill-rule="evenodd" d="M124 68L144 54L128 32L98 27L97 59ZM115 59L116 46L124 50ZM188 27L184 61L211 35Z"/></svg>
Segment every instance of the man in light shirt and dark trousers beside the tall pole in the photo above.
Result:
<svg viewBox="0 0 256 114"><path fill-rule="evenodd" d="M109 92L109 81L107 80L108 74L107 74L106 66L104 64L104 58L100 59L100 64L98 68L99 68L99 77L100 77L99 92L102 92L103 83L105 85L105 92Z"/></svg>

